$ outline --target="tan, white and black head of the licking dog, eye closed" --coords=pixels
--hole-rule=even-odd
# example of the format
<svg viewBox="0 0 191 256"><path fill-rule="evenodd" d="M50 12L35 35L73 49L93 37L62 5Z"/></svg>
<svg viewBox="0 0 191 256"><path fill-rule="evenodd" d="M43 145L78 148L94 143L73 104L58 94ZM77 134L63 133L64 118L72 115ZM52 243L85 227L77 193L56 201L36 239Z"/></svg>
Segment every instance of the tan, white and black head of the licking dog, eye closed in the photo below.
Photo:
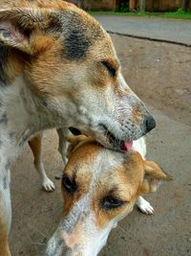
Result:
<svg viewBox="0 0 191 256"><path fill-rule="evenodd" d="M0 11L0 42L19 56L8 79L22 71L39 115L52 113L54 127L78 128L108 148L128 151L155 121L124 81L110 36L74 5L21 2Z"/></svg>

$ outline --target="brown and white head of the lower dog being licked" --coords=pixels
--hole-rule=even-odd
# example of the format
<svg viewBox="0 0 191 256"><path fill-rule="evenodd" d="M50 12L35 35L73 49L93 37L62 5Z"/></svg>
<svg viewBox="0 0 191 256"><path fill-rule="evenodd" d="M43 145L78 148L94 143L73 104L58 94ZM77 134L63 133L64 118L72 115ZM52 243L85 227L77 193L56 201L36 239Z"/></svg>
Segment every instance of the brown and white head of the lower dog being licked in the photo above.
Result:
<svg viewBox="0 0 191 256"><path fill-rule="evenodd" d="M168 177L137 151L110 151L84 136L72 139L69 151L61 184L62 219L46 255L95 256L138 196L156 191Z"/></svg>

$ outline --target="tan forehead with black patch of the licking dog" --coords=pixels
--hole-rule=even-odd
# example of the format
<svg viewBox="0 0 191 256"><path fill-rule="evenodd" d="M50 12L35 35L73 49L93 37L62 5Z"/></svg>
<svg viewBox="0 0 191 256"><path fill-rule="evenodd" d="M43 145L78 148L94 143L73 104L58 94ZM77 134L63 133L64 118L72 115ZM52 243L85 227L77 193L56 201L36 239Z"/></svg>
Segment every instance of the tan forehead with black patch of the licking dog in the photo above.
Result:
<svg viewBox="0 0 191 256"><path fill-rule="evenodd" d="M108 52L115 57L116 53L112 40L102 29L96 19L86 12L78 10L63 10L56 16L57 25L62 37L62 57L68 60L79 60L87 56L93 48L98 51L102 48L103 52ZM103 52L100 51L101 54ZM97 56L97 53L96 53Z"/></svg>

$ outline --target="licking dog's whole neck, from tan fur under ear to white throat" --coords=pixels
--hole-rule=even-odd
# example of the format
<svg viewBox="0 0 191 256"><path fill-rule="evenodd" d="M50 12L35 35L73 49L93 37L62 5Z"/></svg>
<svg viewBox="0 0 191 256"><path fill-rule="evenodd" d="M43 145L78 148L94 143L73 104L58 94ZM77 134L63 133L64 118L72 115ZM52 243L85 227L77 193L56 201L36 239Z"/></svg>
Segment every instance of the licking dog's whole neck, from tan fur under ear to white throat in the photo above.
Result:
<svg viewBox="0 0 191 256"><path fill-rule="evenodd" d="M25 59L0 46L0 155L10 162L35 132L73 126L67 100L58 109L53 98L38 95L24 70Z"/></svg>

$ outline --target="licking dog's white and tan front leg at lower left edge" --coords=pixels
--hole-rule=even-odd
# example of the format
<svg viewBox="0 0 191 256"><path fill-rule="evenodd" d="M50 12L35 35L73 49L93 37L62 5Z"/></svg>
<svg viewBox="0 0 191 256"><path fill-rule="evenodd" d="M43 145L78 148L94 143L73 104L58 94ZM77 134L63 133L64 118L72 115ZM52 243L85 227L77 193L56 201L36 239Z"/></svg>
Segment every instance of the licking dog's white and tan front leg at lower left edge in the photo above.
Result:
<svg viewBox="0 0 191 256"><path fill-rule="evenodd" d="M8 235L10 228L10 170L0 170L0 256L11 256L8 244Z"/></svg>

